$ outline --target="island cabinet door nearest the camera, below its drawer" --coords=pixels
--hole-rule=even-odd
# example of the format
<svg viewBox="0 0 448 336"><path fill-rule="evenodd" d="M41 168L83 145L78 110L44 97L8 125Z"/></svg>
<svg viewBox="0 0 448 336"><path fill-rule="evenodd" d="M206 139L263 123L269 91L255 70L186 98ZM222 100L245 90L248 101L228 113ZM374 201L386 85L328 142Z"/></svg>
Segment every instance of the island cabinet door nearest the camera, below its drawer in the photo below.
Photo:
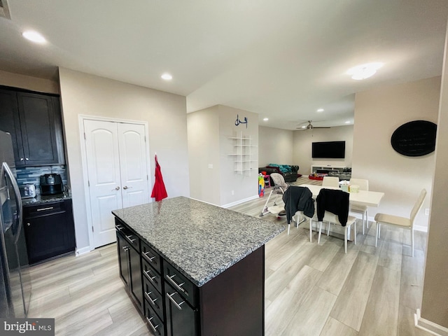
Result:
<svg viewBox="0 0 448 336"><path fill-rule="evenodd" d="M167 307L167 335L198 335L198 312L190 307L188 302L168 283L165 283L165 302Z"/></svg>

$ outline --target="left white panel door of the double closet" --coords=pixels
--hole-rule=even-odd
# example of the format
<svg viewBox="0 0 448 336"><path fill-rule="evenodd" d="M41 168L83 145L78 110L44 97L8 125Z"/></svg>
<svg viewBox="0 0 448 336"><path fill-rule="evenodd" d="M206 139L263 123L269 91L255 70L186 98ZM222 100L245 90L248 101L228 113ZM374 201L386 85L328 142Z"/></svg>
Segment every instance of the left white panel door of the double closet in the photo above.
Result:
<svg viewBox="0 0 448 336"><path fill-rule="evenodd" d="M93 246L116 241L112 210L123 207L117 124L84 120Z"/></svg>

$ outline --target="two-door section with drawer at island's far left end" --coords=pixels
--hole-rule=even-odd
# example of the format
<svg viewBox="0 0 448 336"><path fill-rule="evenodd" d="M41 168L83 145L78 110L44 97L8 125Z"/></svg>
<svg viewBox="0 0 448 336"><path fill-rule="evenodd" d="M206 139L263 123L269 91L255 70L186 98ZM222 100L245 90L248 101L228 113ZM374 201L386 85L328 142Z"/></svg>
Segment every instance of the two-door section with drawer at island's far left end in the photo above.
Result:
<svg viewBox="0 0 448 336"><path fill-rule="evenodd" d="M120 277L126 285L127 291L134 303L143 314L144 296L141 281L141 258L139 238L132 235L123 225L116 225L118 262L120 263Z"/></svg>

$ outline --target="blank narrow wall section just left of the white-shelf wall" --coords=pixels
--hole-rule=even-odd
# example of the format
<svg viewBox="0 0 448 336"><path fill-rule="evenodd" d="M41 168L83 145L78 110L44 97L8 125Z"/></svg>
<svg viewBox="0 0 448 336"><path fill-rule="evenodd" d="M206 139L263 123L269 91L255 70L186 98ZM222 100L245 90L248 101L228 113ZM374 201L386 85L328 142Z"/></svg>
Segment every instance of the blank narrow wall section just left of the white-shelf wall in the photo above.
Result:
<svg viewBox="0 0 448 336"><path fill-rule="evenodd" d="M218 106L188 113L190 196L220 204L220 155ZM209 165L213 165L210 169Z"/></svg>

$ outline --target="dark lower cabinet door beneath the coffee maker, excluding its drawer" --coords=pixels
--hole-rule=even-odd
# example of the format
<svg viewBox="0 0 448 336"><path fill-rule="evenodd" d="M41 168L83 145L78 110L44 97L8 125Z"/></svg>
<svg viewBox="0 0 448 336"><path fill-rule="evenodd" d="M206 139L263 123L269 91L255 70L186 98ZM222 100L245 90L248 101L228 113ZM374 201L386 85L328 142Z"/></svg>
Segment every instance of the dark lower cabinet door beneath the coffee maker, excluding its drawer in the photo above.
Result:
<svg viewBox="0 0 448 336"><path fill-rule="evenodd" d="M66 222L65 212L24 219L30 263L74 251Z"/></svg>

